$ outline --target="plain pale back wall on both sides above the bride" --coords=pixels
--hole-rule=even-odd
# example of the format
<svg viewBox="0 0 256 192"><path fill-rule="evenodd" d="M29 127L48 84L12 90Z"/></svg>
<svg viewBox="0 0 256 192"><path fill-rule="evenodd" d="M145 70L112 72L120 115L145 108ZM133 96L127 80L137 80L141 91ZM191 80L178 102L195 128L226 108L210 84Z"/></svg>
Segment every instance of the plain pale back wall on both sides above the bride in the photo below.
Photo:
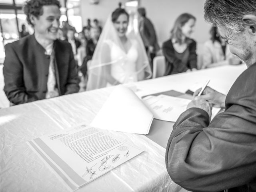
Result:
<svg viewBox="0 0 256 192"><path fill-rule="evenodd" d="M100 0L98 5L91 5L89 0L81 0L83 25L86 25L87 18L98 18L104 24L110 12L117 8L118 2L125 1ZM148 18L155 26L160 46L170 37L172 25L180 14L193 14L197 22L192 38L198 42L198 50L201 52L202 43L209 38L210 29L210 25L203 18L204 2L205 0L140 0L140 5L146 8Z"/></svg>

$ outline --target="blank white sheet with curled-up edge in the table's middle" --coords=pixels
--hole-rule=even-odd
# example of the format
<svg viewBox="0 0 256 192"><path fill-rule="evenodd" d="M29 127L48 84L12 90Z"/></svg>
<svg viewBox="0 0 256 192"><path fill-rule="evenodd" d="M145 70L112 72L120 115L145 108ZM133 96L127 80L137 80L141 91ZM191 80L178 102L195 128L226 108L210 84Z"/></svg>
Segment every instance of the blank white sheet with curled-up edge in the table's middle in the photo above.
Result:
<svg viewBox="0 0 256 192"><path fill-rule="evenodd" d="M119 85L110 94L90 126L148 134L153 118L150 109L132 90Z"/></svg>

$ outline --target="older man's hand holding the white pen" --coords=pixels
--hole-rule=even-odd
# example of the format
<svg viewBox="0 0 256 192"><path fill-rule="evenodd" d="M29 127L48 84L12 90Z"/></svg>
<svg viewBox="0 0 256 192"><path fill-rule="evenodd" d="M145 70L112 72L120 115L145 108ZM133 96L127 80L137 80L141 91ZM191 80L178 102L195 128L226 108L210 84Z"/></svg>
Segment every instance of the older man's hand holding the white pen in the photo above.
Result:
<svg viewBox="0 0 256 192"><path fill-rule="evenodd" d="M204 100L210 102L210 104L212 104L212 106L214 106L214 107L225 108L226 95L224 95L208 86L204 89L201 96L197 96L200 91L201 91L201 88L194 92L194 95L193 95L194 99L198 99L198 100L204 99Z"/></svg>

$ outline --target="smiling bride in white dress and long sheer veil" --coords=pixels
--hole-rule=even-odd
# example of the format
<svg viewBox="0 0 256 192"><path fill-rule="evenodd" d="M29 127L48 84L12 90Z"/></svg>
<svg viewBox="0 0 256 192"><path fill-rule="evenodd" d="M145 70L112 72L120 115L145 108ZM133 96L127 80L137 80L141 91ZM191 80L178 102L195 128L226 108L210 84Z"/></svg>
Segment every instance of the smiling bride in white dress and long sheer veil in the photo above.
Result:
<svg viewBox="0 0 256 192"><path fill-rule="evenodd" d="M121 8L108 18L88 67L86 90L151 77L143 42L133 26L134 20L129 22L129 14Z"/></svg>

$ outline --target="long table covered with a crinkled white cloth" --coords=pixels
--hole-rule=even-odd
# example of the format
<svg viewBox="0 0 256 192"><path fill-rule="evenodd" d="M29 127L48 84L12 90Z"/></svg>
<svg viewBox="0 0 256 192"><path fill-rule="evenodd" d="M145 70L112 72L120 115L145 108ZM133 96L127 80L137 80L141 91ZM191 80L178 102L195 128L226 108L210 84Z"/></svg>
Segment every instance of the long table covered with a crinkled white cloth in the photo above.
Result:
<svg viewBox="0 0 256 192"><path fill-rule="evenodd" d="M245 65L222 66L137 82L136 94L143 96L203 84L227 93ZM103 88L40 100L0 109L0 189L1 191L69 191L62 181L29 148L26 141L66 129L77 123L90 124L114 88ZM172 123L155 122L147 136L111 132L117 138L144 152L90 182L78 191L178 192L166 171L165 146Z"/></svg>

